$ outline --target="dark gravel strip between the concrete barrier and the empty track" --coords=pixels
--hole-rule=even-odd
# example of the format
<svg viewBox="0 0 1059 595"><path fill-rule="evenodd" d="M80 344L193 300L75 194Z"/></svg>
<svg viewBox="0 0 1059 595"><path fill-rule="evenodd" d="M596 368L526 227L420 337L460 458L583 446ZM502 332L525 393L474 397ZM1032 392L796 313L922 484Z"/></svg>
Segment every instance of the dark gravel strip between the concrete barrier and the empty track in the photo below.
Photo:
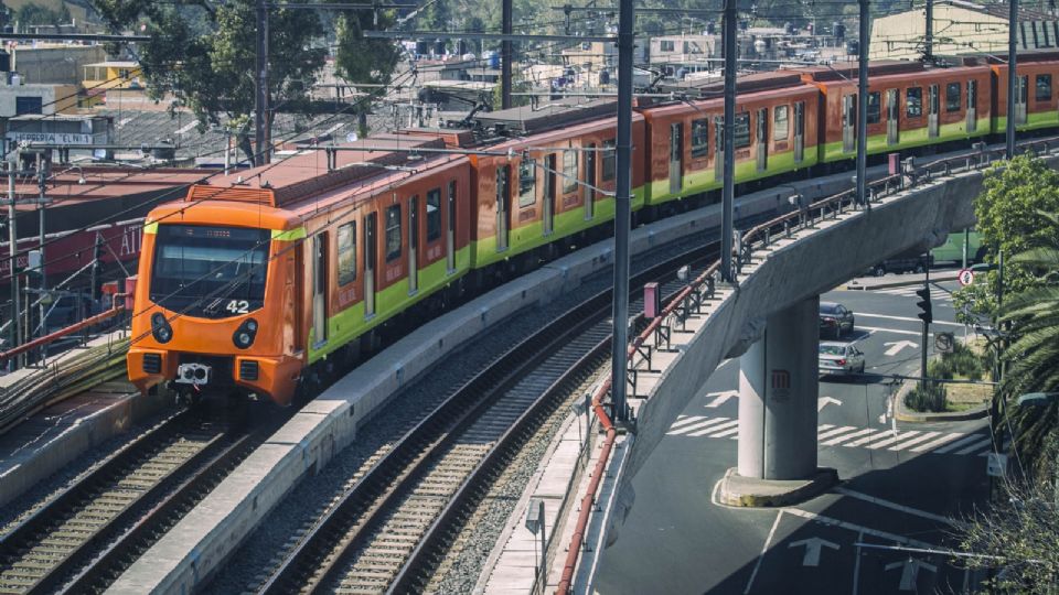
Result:
<svg viewBox="0 0 1059 595"><path fill-rule="evenodd" d="M659 260L702 246L704 241L713 240L716 235L713 232L691 236L634 257L631 270L642 270ZM218 570L203 592L226 595L256 587L278 563L281 554L295 545L298 536L311 527L313 520L363 474L368 457L381 450L388 450L388 445L418 423L446 394L488 366L517 340L555 320L571 306L609 288L611 283L610 271L586 278L577 289L557 296L550 303L524 310L502 324L494 325L483 336L457 349L398 392L359 430L356 442L335 455L317 476L306 478L287 495ZM518 493L521 494L521 488ZM517 495L514 498L517 500ZM502 526L503 521L499 522ZM488 548L492 548L492 542ZM488 552L488 549L485 551ZM468 577L471 584L477 576L474 574Z"/></svg>

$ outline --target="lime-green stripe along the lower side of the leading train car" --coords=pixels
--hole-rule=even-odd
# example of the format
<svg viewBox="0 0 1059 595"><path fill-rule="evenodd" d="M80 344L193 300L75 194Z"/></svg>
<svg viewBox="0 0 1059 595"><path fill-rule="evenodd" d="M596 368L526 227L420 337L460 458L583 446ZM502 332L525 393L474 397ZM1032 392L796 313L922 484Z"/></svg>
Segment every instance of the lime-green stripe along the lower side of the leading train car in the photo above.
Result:
<svg viewBox="0 0 1059 595"><path fill-rule="evenodd" d="M404 258L407 258L407 256ZM448 262L443 258L419 269L419 288L415 294L409 295L408 293L407 277L376 292L375 314L373 316L367 318L364 316L363 301L331 316L328 318L328 342L325 344L317 346L315 334L313 329L309 331L309 363L314 364L322 357L360 337L365 332L402 313L408 306L435 293L446 284L463 277L467 274L470 266L470 247L461 248L456 251L456 269L451 272L448 270ZM360 286L363 288L363 277L357 278L354 283L360 283Z"/></svg>

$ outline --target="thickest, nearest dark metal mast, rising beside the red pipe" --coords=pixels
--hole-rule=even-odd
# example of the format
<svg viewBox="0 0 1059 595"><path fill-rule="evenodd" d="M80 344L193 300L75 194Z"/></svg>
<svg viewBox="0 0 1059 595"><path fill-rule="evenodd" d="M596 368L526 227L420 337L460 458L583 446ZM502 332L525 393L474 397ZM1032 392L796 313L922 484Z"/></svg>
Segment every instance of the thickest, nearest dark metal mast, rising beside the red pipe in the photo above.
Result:
<svg viewBox="0 0 1059 595"><path fill-rule="evenodd" d="M625 389L629 345L629 228L632 221L632 0L618 8L618 138L614 188L614 339L611 342L613 415L629 419Z"/></svg>

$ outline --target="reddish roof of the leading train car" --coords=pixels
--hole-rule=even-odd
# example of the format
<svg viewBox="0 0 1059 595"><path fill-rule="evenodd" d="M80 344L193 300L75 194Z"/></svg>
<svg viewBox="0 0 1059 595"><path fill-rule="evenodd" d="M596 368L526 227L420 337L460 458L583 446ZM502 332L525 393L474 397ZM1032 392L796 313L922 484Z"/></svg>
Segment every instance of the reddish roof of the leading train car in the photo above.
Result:
<svg viewBox="0 0 1059 595"><path fill-rule="evenodd" d="M236 201L286 207L333 188L385 177L398 167L422 167L440 155L416 149L443 149L440 138L379 134L351 143L303 150L285 161L217 174L192 186L186 201ZM329 164L329 161L331 163Z"/></svg>

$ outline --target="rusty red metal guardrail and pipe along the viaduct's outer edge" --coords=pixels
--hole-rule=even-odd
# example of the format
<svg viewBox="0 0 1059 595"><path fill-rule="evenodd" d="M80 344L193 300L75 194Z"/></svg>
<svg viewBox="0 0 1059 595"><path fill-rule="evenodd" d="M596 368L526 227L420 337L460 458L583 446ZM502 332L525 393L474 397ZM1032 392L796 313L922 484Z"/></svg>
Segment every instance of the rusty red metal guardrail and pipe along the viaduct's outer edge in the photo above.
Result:
<svg viewBox="0 0 1059 595"><path fill-rule="evenodd" d="M1036 154L1055 154L1059 152L1059 137L1034 140L1019 144L1023 153L1033 152ZM739 274L742 273L742 267L750 262L753 250L768 248L777 239L790 238L798 230L812 228L816 224L828 218L835 219L838 215L848 210L869 210L873 203L878 203L887 196L914 188L920 184L930 183L939 178L949 177L956 173L984 170L992 164L1004 161L1006 158L1005 149L986 149L984 143L975 143L972 152L954 158L934 161L921 166L917 166L912 159L905 160L901 163L901 173L886 176L877 180L867 186L867 203L858 204L856 191L848 190L838 194L822 198L804 208L791 210L787 214L774 217L748 231L738 236L732 253L731 278L738 284ZM720 261L710 264L702 274L691 281L681 290L662 310L662 312L652 320L648 326L630 343L628 349L629 366L625 368L627 381L635 388L637 365L648 361L650 367L654 349L662 345L667 348L673 329L677 326L684 329L686 321L693 315L703 314L704 304L716 298L718 285L718 272L720 271ZM650 343L649 343L650 342ZM638 356L641 358L637 361ZM606 379L592 394L592 411L599 419L601 428L607 432L603 441L602 451L592 472L592 479L581 499L580 512L578 513L577 524L574 529L574 536L570 538L567 548L566 565L563 569L563 575L556 587L557 595L566 595L574 583L574 572L577 570L577 561L580 555L581 545L585 541L585 530L588 527L588 520L596 506L596 494L606 473L610 453L613 450L617 437L617 429L611 422L605 402L610 394L611 380ZM634 394L634 392L633 392Z"/></svg>

